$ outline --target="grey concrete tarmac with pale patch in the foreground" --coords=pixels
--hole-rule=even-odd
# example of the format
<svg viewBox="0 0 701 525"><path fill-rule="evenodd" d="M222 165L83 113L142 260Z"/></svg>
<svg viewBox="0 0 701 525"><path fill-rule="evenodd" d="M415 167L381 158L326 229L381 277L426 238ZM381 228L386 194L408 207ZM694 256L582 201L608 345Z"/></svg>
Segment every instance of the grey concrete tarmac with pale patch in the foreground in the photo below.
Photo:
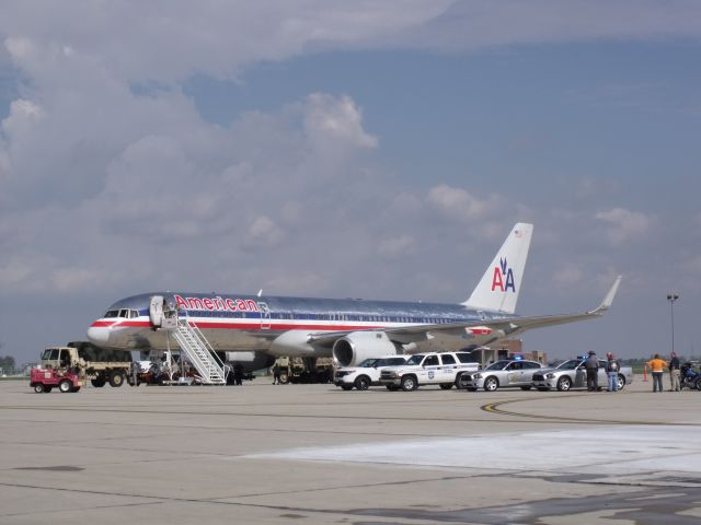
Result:
<svg viewBox="0 0 701 525"><path fill-rule="evenodd" d="M665 386L669 383L665 377ZM0 383L0 524L698 524L701 392Z"/></svg>

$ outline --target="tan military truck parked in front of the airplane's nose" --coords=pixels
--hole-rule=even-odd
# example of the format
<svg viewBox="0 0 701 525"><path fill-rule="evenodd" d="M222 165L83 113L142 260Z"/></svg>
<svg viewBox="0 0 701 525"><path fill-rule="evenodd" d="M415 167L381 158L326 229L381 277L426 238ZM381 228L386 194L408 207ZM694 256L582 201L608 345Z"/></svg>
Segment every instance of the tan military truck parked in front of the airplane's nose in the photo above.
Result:
<svg viewBox="0 0 701 525"><path fill-rule="evenodd" d="M90 342L70 342L67 347L50 347L42 352L42 368L57 371L76 369L92 386L105 383L119 387L129 377L131 352L108 351Z"/></svg>

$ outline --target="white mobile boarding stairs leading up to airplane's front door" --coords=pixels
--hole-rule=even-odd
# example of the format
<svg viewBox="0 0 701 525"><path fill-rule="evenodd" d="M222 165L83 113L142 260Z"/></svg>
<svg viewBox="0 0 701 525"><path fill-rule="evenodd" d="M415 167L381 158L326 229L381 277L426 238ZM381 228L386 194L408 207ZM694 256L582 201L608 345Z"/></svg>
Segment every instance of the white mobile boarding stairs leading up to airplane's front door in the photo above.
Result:
<svg viewBox="0 0 701 525"><path fill-rule="evenodd" d="M221 362L195 323L188 320L187 317L177 316L171 332L187 360L199 373L203 384L227 384L229 368Z"/></svg>

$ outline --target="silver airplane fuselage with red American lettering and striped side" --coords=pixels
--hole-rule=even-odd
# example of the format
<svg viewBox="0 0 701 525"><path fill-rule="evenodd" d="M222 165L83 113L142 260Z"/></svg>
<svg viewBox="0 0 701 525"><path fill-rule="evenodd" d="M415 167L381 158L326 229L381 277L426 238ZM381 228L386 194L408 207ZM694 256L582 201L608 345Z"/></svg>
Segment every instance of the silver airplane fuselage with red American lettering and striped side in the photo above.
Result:
<svg viewBox="0 0 701 525"><path fill-rule="evenodd" d="M166 330L157 330L149 305L152 296L186 316L217 351L263 351L272 355L331 355L331 347L308 341L309 334L354 332L417 325L450 325L504 318L459 304L307 299L153 292L114 303L88 330L89 339L103 348L166 350L173 348ZM464 348L494 339L490 330L457 330L448 337L406 341L413 349ZM420 338L421 339L421 338Z"/></svg>

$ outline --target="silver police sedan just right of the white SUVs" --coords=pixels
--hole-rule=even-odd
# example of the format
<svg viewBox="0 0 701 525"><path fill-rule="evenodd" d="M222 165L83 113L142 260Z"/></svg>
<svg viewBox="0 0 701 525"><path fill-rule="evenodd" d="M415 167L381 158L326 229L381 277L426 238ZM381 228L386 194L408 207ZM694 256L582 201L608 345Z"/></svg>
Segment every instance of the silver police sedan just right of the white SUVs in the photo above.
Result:
<svg viewBox="0 0 701 525"><path fill-rule="evenodd" d="M456 386L471 392L478 388L494 392L508 386L520 386L524 390L529 390L533 374L541 369L542 365L536 361L504 359L478 372L460 373Z"/></svg>

